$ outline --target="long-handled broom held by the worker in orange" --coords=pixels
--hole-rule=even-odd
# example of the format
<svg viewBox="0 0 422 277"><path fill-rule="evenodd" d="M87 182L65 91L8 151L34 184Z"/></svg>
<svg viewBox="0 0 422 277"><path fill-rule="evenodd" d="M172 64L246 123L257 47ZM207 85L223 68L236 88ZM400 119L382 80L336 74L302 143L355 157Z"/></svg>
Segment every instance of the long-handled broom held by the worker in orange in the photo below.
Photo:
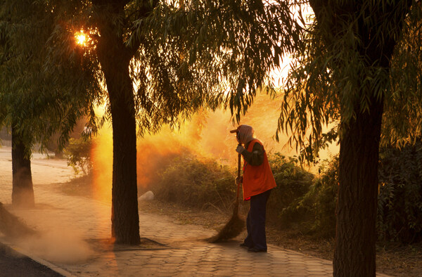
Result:
<svg viewBox="0 0 422 277"><path fill-rule="evenodd" d="M241 154L238 155L238 178L241 178ZM238 214L238 206L239 206L239 191L240 191L240 182L236 182L237 190L236 190L236 204L233 208L233 214L231 215L231 219L227 222L226 226L222 228L222 231L219 231L217 235L209 238L208 241L210 243L219 243L223 240L229 240L230 238L236 238L245 226L245 221L239 217Z"/></svg>

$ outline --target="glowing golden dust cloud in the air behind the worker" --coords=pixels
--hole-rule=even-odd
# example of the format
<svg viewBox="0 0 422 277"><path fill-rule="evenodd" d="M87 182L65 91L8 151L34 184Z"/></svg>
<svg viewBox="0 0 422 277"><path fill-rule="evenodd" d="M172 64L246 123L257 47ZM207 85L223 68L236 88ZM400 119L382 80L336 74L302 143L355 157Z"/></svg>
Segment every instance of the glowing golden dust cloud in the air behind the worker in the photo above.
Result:
<svg viewBox="0 0 422 277"><path fill-rule="evenodd" d="M255 129L255 137L262 141L267 153L298 155L295 150L286 146L288 136L279 134L279 142L274 139L279 115L280 101L272 101L267 94L257 94L240 124L249 124ZM229 111L200 110L190 120L183 122L179 129L170 130L170 127L164 126L158 134L138 139L136 150L139 188L148 188L150 183L157 181L160 172L178 155L212 158L222 165L236 167L237 141L229 131L237 126L238 124L232 124ZM321 153L321 158L324 159L336 151L334 146L328 152ZM91 160L94 165L94 193L97 198L109 202L113 173L113 136L110 124L105 124L93 139Z"/></svg>

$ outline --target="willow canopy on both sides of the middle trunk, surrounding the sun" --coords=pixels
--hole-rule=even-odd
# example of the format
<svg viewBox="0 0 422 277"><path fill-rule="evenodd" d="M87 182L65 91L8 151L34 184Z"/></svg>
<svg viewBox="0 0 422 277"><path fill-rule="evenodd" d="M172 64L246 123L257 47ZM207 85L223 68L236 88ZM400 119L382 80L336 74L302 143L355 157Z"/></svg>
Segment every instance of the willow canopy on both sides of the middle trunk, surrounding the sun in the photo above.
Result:
<svg viewBox="0 0 422 277"><path fill-rule="evenodd" d="M113 46L101 38L113 33L113 39L124 45L123 56L132 57L130 77L137 84L134 103L140 135L158 131L162 124L177 127L179 120L188 119L202 105L224 105L240 120L258 87L268 84L270 91L269 72L279 67L284 53L292 51L300 30L285 1L54 0L49 4L56 18L49 59L77 56L84 72L91 72L101 84L105 76L99 57L107 57L104 53ZM79 53L72 39L81 29L90 39ZM110 56L101 63L108 63L106 59Z"/></svg>

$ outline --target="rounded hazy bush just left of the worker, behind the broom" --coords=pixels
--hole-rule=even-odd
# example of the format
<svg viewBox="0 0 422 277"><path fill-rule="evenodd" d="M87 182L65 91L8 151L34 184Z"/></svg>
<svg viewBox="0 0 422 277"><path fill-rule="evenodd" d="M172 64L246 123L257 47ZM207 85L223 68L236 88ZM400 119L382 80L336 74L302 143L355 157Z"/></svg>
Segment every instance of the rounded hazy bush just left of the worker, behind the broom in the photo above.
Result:
<svg viewBox="0 0 422 277"><path fill-rule="evenodd" d="M236 198L234 175L228 167L191 155L174 158L150 189L162 200L190 207L212 205L226 211Z"/></svg>

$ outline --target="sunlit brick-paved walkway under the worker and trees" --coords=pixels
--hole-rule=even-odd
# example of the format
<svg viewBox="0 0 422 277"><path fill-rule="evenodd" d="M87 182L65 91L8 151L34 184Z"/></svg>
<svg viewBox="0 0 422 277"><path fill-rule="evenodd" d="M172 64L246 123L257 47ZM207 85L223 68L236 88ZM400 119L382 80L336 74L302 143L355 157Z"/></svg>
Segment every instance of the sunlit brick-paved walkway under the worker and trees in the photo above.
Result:
<svg viewBox="0 0 422 277"><path fill-rule="evenodd" d="M4 203L11 202L8 163L11 163L8 156L0 150L0 201ZM57 174L62 177L72 174L65 163L56 162L52 167L48 160L40 161L33 174L36 202L42 203L43 208L13 210L13 213L40 231L71 230L86 240L110 237L110 205L63 195L51 185L57 181L54 177ZM42 183L37 183L37 174L42 174ZM45 179L51 179L51 183ZM170 217L142 211L139 218L141 237L167 248L98 248L93 249L88 259L74 263L56 261L54 257L41 258L71 276L332 276L332 262L328 260L274 245L269 245L267 253L250 253L238 246L240 239L231 243L206 243L204 238L215 232L200 226L177 224Z"/></svg>

